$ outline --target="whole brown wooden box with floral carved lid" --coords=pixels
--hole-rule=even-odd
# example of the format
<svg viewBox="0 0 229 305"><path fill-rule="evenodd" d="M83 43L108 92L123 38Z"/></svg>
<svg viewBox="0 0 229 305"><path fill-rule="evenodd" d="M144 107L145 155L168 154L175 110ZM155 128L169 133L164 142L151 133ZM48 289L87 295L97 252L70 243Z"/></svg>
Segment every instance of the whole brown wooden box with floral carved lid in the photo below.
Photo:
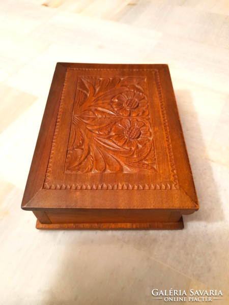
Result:
<svg viewBox="0 0 229 305"><path fill-rule="evenodd" d="M22 201L38 229L182 229L198 209L167 65L56 65Z"/></svg>

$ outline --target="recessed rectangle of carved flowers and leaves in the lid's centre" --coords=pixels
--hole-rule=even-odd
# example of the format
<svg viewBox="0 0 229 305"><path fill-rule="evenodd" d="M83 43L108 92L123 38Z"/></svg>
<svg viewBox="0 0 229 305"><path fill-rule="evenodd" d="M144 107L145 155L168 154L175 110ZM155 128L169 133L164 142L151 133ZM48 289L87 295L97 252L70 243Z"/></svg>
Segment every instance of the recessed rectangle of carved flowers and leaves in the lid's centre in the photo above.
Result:
<svg viewBox="0 0 229 305"><path fill-rule="evenodd" d="M157 171L146 77L78 77L65 173Z"/></svg>

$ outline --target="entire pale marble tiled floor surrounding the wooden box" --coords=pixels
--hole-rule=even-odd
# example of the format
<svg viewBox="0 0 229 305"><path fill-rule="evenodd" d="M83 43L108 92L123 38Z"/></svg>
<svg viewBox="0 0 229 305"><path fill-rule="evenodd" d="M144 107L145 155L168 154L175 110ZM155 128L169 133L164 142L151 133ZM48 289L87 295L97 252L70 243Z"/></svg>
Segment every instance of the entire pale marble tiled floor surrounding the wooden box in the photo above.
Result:
<svg viewBox="0 0 229 305"><path fill-rule="evenodd" d="M227 0L0 2L0 304L163 304L154 288L229 303L228 15ZM35 229L20 203L56 62L169 65L200 205L184 230Z"/></svg>

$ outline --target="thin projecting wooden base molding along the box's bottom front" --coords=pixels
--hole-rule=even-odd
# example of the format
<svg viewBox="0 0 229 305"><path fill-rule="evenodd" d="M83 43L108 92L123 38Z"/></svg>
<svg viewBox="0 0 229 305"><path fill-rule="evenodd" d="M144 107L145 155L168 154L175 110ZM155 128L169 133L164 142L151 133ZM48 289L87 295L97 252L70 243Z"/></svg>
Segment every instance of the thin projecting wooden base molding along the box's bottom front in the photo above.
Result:
<svg viewBox="0 0 229 305"><path fill-rule="evenodd" d="M37 220L36 228L40 230L181 230L183 218L179 222L159 223L88 223L88 224L41 224Z"/></svg>

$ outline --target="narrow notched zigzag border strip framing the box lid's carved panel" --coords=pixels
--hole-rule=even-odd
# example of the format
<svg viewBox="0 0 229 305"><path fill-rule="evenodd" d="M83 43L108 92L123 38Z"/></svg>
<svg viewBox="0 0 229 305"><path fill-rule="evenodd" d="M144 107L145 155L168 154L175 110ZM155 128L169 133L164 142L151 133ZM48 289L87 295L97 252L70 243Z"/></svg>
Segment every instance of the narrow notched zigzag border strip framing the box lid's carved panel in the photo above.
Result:
<svg viewBox="0 0 229 305"><path fill-rule="evenodd" d="M105 185L103 184L98 184L97 186L92 185L92 186L84 186L84 185L56 185L56 186L48 186L47 182L50 181L51 178L51 170L52 170L52 158L55 150L55 140L59 132L59 127L60 127L60 120L62 116L62 111L63 111L63 101L66 93L66 84L68 80L68 71L69 70L94 70L94 71L152 71L155 73L155 80L156 80L156 88L159 96L159 102L160 102L160 109L161 109L161 115L163 119L163 127L164 127L164 133L165 133L165 138L166 138L166 143L167 143L167 149L168 149L168 156L169 156L169 163L171 167L171 172L173 173L173 181L174 183L171 184L151 184L147 185L145 184L144 186L141 185L133 185L131 186L130 184L123 184L121 185L120 183L118 184L113 184L111 185ZM62 90L62 95L61 95L61 101L60 101L60 107L58 111L58 116L56 119L56 125L55 125L55 131L54 131L54 136L52 139L52 145L51 145L51 151L50 151L50 156L49 156L49 161L48 161L48 166L45 174L45 179L44 179L44 185L43 189L46 190L176 190L179 189L179 184L178 184L178 177L176 174L176 169L175 169L175 163L174 163L174 156L173 156L173 150L171 148L171 141L170 141L170 136L169 136L169 130L168 130L168 124L167 124L167 118L166 118L166 112L165 112L165 107L164 107L164 101L163 101L163 96L162 96L162 90L161 90L161 84L160 84L160 77L157 69L93 69L93 68L68 68L66 72L66 77L64 81L64 86Z"/></svg>

